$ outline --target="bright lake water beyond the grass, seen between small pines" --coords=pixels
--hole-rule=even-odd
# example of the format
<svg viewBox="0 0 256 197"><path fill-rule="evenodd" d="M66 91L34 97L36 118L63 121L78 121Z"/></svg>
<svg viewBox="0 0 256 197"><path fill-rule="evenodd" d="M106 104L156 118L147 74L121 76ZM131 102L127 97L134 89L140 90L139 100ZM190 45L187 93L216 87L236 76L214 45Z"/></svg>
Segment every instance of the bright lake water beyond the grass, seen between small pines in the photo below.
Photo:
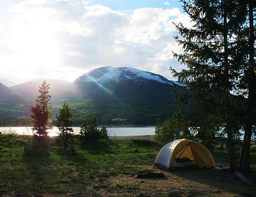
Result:
<svg viewBox="0 0 256 197"><path fill-rule="evenodd" d="M79 134L80 127L73 127L74 134ZM99 127L100 129L100 127ZM107 127L109 136L145 136L154 135L154 126L141 126L141 127ZM32 135L31 127L0 127L2 133L14 133L14 134L24 134ZM56 136L58 132L57 127L49 130L49 136Z"/></svg>

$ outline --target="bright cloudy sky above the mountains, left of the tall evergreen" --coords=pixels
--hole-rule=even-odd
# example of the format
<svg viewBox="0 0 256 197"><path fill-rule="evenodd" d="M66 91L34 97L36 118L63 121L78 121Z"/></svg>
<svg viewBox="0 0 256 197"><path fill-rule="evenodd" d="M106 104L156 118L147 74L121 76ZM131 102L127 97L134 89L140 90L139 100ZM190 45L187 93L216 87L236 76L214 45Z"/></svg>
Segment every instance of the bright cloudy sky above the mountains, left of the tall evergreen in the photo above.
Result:
<svg viewBox="0 0 256 197"><path fill-rule="evenodd" d="M0 78L73 82L123 66L175 80L172 22L191 27L178 0L0 0Z"/></svg>

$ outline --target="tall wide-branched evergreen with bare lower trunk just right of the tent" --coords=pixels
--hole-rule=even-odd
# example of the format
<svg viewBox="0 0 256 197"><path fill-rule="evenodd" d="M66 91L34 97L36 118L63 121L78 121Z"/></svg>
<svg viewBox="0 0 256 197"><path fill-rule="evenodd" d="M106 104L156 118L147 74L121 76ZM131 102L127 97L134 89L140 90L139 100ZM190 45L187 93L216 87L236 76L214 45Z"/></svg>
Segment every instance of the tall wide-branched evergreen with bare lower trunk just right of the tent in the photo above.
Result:
<svg viewBox="0 0 256 197"><path fill-rule="evenodd" d="M236 0L182 0L183 8L192 22L189 29L176 24L182 38L175 40L184 53L174 53L178 61L187 66L180 72L171 68L179 81L188 84L189 96L195 98L194 109L207 117L219 116L225 123L230 169L236 170L235 136L239 136L236 105L231 93L242 73L237 56L236 30L243 23L243 8Z"/></svg>

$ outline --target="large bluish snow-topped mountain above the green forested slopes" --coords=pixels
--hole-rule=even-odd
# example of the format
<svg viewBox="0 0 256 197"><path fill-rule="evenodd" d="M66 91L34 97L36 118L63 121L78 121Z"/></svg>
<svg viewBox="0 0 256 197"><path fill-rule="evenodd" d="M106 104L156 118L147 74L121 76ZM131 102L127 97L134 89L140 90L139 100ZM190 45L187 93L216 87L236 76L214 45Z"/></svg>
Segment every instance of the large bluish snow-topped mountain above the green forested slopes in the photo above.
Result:
<svg viewBox="0 0 256 197"><path fill-rule="evenodd" d="M74 86L86 98L173 100L173 83L161 75L136 68L105 66L77 78Z"/></svg>

